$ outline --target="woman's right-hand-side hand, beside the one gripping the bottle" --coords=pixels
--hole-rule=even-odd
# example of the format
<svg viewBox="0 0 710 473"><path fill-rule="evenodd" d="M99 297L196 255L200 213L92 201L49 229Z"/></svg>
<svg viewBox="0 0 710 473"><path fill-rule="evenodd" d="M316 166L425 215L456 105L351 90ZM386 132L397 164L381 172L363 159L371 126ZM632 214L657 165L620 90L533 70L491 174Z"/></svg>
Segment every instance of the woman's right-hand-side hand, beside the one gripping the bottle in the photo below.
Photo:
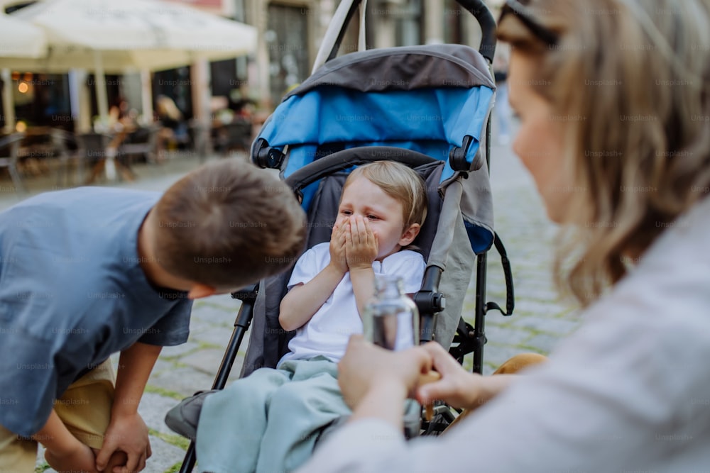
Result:
<svg viewBox="0 0 710 473"><path fill-rule="evenodd" d="M419 386L415 393L421 404L441 400L457 408L475 408L484 402L484 378L467 372L442 345L430 342L420 347L430 356L434 369L441 374L436 382ZM486 399L487 400L487 399Z"/></svg>

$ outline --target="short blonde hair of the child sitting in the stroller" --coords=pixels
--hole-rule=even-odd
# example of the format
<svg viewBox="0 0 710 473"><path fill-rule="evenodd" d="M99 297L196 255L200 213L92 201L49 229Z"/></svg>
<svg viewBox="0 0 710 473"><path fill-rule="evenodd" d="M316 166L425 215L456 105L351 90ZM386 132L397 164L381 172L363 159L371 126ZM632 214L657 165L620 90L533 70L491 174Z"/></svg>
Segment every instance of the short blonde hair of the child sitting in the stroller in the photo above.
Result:
<svg viewBox="0 0 710 473"><path fill-rule="evenodd" d="M404 228L410 228L413 223L424 225L427 190L424 180L413 169L395 161L370 162L349 174L343 190L358 177L364 177L402 204Z"/></svg>

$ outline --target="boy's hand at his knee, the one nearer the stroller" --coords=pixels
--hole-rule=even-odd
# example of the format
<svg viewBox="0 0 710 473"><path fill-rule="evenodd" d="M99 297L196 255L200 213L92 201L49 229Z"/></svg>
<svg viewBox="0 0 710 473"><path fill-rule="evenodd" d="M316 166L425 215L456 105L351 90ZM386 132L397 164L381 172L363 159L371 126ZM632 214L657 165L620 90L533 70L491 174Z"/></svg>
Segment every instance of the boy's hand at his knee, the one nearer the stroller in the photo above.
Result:
<svg viewBox="0 0 710 473"><path fill-rule="evenodd" d="M120 472L106 473L140 472L146 467L146 460L153 455L148 427L138 413L111 419L104 435L104 446L96 457L97 469L104 471L112 455L119 450L128 456L125 466L119 467Z"/></svg>

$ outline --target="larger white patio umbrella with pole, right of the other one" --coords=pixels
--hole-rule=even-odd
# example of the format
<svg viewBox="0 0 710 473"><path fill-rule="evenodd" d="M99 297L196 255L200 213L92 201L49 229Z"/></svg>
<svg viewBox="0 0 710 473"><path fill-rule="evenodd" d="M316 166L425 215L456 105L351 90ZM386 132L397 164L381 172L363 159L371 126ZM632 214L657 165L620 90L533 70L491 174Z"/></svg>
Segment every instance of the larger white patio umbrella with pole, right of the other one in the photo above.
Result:
<svg viewBox="0 0 710 473"><path fill-rule="evenodd" d="M0 59L0 67L46 72L92 69L104 118L106 72L169 69L256 49L253 26L160 0L46 0L11 16L44 30L48 54L38 60Z"/></svg>

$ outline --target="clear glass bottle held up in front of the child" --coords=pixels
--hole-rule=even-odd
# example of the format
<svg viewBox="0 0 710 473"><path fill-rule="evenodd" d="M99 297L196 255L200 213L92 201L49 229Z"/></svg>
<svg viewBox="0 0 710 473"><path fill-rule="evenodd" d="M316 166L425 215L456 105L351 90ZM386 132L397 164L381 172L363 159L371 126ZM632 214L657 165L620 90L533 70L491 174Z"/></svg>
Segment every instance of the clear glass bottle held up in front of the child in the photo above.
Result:
<svg viewBox="0 0 710 473"><path fill-rule="evenodd" d="M375 274L375 296L365 306L366 340L388 350L405 350L419 345L419 311L405 294L402 279Z"/></svg>

